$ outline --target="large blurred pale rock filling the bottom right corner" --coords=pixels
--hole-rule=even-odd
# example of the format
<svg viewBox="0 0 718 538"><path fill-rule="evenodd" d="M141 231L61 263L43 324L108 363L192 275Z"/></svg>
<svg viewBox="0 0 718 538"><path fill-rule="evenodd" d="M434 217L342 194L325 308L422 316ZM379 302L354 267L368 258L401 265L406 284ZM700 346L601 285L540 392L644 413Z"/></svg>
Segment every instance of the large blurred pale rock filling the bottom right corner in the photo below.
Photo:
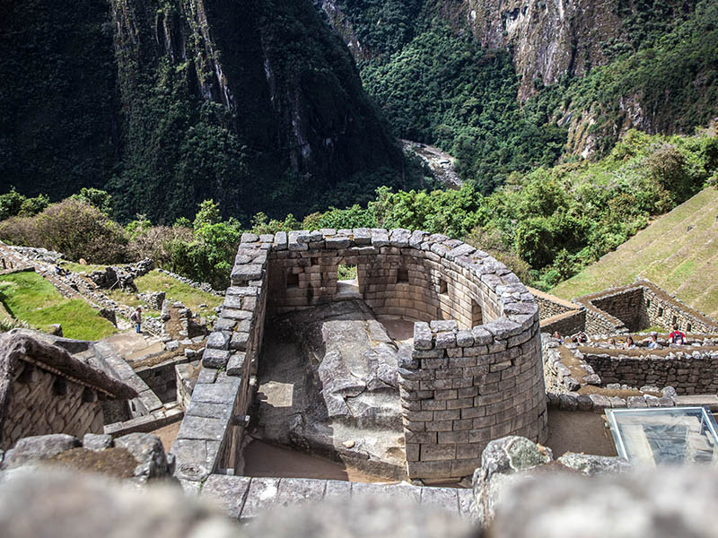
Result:
<svg viewBox="0 0 718 538"><path fill-rule="evenodd" d="M496 510L501 538L714 536L718 475L709 468L587 479L565 473L520 482Z"/></svg>

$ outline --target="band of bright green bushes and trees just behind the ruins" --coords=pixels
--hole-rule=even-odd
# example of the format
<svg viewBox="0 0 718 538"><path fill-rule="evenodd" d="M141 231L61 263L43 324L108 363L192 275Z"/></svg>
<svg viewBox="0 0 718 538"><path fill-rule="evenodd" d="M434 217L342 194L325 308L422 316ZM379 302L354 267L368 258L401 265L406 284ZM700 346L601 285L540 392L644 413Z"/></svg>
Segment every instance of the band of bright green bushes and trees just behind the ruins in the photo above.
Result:
<svg viewBox="0 0 718 538"><path fill-rule="evenodd" d="M151 257L161 267L226 286L241 232L321 228L407 228L467 240L500 259L524 282L550 288L577 273L701 188L718 184L718 137L630 131L608 156L513 174L491 195L477 188L377 189L365 205L330 208L303 219L257 213L250 227L223 220L206 200L194 221L172 226L146 218L112 220L112 198L83 189L59 204L47 196L0 195L0 239L107 264Z"/></svg>

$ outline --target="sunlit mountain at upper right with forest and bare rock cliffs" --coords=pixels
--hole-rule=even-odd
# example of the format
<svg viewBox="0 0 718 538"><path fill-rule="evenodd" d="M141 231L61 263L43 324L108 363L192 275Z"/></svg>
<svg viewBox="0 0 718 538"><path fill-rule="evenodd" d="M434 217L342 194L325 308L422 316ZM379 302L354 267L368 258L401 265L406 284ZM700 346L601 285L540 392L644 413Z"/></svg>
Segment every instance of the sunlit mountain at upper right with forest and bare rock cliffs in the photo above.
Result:
<svg viewBox="0 0 718 538"><path fill-rule="evenodd" d="M483 192L718 115L713 0L315 0L394 132ZM417 83L418 82L418 83Z"/></svg>

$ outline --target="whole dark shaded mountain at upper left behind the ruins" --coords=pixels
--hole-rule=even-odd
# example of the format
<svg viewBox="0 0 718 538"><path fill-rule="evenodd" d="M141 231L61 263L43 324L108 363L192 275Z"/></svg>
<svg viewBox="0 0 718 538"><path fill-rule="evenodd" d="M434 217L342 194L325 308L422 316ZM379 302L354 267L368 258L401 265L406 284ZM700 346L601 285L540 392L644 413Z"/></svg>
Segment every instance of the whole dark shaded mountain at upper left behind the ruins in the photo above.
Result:
<svg viewBox="0 0 718 538"><path fill-rule="evenodd" d="M4 0L3 190L115 195L118 216L307 213L408 186L311 0ZM406 179L406 180L405 180Z"/></svg>

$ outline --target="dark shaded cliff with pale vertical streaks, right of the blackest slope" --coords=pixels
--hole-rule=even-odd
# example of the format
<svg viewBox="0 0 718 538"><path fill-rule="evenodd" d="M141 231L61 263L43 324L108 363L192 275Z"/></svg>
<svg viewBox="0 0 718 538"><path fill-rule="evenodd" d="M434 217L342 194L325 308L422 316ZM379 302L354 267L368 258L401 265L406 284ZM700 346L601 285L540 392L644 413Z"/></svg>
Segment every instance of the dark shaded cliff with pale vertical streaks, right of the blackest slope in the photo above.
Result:
<svg viewBox="0 0 718 538"><path fill-rule="evenodd" d="M245 217L306 213L337 203L347 184L371 193L378 181L365 178L377 170L398 177L398 144L310 0L112 6L127 164L113 187L124 213L190 213L206 197ZM169 211L154 209L168 186Z"/></svg>

